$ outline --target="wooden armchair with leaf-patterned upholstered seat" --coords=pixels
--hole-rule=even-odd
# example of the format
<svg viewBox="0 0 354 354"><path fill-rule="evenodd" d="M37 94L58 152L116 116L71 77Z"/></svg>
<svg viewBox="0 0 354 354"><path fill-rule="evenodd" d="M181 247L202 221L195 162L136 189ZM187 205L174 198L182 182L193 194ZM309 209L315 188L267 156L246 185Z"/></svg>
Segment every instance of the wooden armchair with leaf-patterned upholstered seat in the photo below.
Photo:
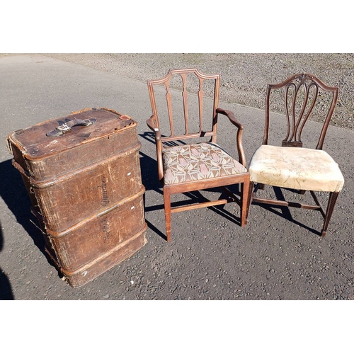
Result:
<svg viewBox="0 0 354 354"><path fill-rule="evenodd" d="M171 89L172 84L177 82L181 84L182 93ZM152 116L147 120L147 125L154 132L156 142L159 181L164 193L167 241L171 240L173 212L236 202L241 208L241 227L246 224L249 172L242 145L244 127L236 120L234 113L219 108L219 82L219 74L202 74L198 69L169 70L162 79L147 81L152 105ZM193 87L193 84L195 92L191 93L187 86ZM158 102L156 90L166 93L164 102ZM203 100L205 92L212 96L208 113L207 104L210 100ZM177 98L175 94L178 95ZM195 105L188 105L192 101L195 101ZM209 120L204 120L207 115ZM217 145L219 115L225 115L237 128L236 148L239 161ZM230 188L226 188L227 198L171 206L173 194L225 188L235 184L241 184L240 197L231 193Z"/></svg>

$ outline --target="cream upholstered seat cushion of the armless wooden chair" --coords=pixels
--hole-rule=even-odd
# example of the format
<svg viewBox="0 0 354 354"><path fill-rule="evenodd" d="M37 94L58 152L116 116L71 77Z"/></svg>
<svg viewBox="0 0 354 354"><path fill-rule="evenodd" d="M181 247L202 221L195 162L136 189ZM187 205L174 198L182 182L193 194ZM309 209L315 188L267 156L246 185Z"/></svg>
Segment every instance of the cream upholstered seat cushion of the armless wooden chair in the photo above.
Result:
<svg viewBox="0 0 354 354"><path fill-rule="evenodd" d="M251 181L282 188L340 192L344 178L323 150L261 145L249 167Z"/></svg>

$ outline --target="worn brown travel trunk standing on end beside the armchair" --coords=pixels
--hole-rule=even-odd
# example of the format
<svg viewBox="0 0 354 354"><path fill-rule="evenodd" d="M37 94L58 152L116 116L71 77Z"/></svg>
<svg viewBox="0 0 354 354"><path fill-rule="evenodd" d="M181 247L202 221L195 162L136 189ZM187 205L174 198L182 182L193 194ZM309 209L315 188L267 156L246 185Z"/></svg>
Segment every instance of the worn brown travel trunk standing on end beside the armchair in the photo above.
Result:
<svg viewBox="0 0 354 354"><path fill-rule="evenodd" d="M137 122L81 110L7 137L46 251L79 287L146 243Z"/></svg>

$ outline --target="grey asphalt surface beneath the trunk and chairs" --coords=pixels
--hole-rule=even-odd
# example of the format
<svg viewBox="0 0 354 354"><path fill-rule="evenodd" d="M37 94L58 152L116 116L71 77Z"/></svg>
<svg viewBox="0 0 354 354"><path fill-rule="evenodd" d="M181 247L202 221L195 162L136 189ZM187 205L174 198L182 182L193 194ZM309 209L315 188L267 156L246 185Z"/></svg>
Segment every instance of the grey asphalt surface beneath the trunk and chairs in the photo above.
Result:
<svg viewBox="0 0 354 354"><path fill-rule="evenodd" d="M325 238L319 236L319 213L252 205L249 224L241 228L239 208L230 204L174 214L167 243L155 148L145 124L151 115L146 81L44 55L0 57L0 78L0 299L354 299L353 130L331 126L327 133L324 149L346 183ZM263 137L263 111L220 106L244 123L249 161ZM5 139L15 130L91 107L111 108L138 122L147 244L87 285L72 288L45 255ZM232 151L229 128L226 120L220 125L219 144Z"/></svg>

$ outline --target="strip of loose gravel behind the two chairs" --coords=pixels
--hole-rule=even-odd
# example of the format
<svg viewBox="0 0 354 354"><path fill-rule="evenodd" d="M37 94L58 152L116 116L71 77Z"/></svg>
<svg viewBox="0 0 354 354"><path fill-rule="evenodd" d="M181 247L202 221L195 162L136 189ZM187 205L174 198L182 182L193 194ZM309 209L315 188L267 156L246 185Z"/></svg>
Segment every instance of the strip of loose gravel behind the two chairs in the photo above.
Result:
<svg viewBox="0 0 354 354"><path fill-rule="evenodd" d="M354 129L354 54L48 54L50 57L146 81L169 69L197 67L222 75L220 98L264 108L265 87L307 72L329 86L339 87L332 125Z"/></svg>

